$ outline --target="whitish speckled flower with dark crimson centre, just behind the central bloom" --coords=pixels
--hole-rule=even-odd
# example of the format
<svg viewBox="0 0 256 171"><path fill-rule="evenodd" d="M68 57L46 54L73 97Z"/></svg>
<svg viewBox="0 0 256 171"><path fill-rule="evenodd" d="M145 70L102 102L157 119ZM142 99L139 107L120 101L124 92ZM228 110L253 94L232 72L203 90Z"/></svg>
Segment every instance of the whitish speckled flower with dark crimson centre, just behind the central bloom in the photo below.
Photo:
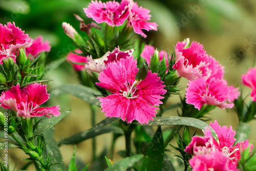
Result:
<svg viewBox="0 0 256 171"><path fill-rule="evenodd" d="M92 56L88 56L87 60L88 63L86 64L86 69L89 71L100 73L103 69L108 66L110 62L118 61L120 59L125 59L126 57L133 57L134 50L128 51L120 51L119 47L115 48L112 52L106 52L101 58L99 59L92 59Z"/></svg>

